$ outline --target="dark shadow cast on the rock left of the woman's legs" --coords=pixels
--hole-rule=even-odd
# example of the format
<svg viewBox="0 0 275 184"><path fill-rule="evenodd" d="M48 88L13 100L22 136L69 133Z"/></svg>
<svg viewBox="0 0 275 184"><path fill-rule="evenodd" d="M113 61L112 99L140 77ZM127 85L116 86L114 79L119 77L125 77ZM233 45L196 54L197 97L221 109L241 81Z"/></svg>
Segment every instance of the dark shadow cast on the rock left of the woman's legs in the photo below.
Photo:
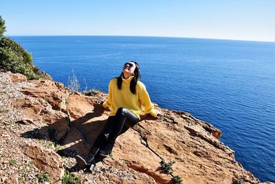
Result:
<svg viewBox="0 0 275 184"><path fill-rule="evenodd" d="M21 137L52 141L61 156L87 155L106 123L107 114L103 112L104 109L95 104L93 112L74 121L63 117L44 127L23 132Z"/></svg>

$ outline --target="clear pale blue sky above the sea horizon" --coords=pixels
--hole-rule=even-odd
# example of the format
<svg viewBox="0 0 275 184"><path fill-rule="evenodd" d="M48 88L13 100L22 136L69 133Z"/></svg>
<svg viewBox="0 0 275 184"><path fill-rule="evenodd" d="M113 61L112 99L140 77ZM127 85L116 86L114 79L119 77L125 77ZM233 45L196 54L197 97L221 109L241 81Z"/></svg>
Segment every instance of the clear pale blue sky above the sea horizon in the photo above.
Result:
<svg viewBox="0 0 275 184"><path fill-rule="evenodd" d="M5 35L275 41L275 0L1 0Z"/></svg>

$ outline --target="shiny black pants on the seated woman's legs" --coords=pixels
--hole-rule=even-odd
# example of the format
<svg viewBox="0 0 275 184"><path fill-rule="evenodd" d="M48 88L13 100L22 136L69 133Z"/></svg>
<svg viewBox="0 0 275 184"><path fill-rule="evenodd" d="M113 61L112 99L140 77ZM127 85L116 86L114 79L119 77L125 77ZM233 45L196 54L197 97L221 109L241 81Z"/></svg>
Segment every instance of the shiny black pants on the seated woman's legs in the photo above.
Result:
<svg viewBox="0 0 275 184"><path fill-rule="evenodd" d="M109 116L102 132L93 147L104 147L107 143L115 143L115 139L133 127L140 119L126 108L118 108L115 116ZM126 123L125 123L126 122Z"/></svg>

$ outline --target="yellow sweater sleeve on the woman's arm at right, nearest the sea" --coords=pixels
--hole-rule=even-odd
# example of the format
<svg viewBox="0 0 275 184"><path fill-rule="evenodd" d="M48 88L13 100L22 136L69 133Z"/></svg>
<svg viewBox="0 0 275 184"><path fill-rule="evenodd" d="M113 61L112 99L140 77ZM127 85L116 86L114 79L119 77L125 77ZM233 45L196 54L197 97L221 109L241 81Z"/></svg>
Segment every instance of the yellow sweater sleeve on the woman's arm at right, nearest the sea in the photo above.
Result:
<svg viewBox="0 0 275 184"><path fill-rule="evenodd" d="M145 85L141 83L140 85L140 103L144 107L144 112L146 114L150 113L152 116L157 117L157 110L154 109L153 103L151 103L148 92L146 91Z"/></svg>

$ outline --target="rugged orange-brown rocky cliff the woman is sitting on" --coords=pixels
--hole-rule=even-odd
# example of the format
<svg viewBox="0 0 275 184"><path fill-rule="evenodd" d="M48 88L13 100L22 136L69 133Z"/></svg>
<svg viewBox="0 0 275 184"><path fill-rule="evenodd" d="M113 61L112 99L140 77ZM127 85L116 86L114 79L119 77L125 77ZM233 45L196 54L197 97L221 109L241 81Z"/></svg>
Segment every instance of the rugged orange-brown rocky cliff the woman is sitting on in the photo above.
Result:
<svg viewBox="0 0 275 184"><path fill-rule="evenodd" d="M0 183L61 183L69 172L80 183L260 183L217 128L160 108L162 118L142 116L93 173L77 170L74 156L88 154L108 117L98 105L106 98L0 72Z"/></svg>

